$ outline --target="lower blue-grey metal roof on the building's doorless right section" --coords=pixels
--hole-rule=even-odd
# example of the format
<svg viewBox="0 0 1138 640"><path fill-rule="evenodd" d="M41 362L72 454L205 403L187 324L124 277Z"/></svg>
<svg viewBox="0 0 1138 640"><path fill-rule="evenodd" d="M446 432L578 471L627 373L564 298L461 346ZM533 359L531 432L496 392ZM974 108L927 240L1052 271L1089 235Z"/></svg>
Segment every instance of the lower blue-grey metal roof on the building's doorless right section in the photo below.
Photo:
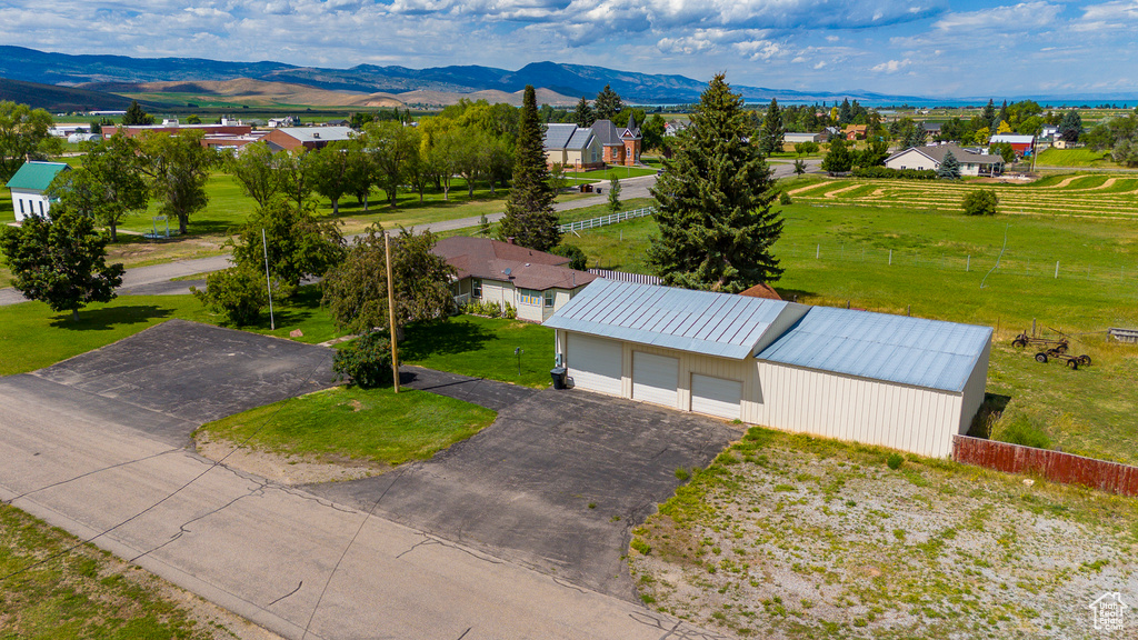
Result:
<svg viewBox="0 0 1138 640"><path fill-rule="evenodd" d="M991 335L990 327L815 306L756 358L959 393Z"/></svg>

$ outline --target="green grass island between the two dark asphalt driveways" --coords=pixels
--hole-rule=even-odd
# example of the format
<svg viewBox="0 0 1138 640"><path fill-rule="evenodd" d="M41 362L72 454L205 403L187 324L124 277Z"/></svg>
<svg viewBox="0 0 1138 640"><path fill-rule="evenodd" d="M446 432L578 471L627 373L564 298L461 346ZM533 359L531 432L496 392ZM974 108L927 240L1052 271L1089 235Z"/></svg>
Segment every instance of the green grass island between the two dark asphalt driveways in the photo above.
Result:
<svg viewBox="0 0 1138 640"><path fill-rule="evenodd" d="M489 409L421 391L337 387L230 416L197 433L280 454L396 466L430 458L494 417Z"/></svg>

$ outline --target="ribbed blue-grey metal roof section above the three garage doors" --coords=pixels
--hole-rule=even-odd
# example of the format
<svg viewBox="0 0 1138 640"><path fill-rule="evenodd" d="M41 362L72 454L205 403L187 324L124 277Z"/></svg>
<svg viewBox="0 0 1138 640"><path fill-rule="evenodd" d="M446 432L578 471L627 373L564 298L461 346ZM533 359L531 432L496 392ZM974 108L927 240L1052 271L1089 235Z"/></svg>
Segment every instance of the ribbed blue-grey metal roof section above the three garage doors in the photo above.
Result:
<svg viewBox="0 0 1138 640"><path fill-rule="evenodd" d="M599 279L545 326L742 360L787 306L782 301Z"/></svg>

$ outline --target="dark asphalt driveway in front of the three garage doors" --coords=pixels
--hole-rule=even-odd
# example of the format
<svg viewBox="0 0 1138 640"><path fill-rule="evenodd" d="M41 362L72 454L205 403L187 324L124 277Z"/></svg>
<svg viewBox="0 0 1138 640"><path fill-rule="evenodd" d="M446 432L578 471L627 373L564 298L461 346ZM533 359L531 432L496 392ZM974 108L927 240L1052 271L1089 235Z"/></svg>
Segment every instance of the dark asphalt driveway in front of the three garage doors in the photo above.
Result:
<svg viewBox="0 0 1138 640"><path fill-rule="evenodd" d="M305 489L361 510L374 507L385 518L554 579L635 599L621 560L630 530L671 497L678 467L707 466L742 432L583 391L526 395L502 408L494 425L430 460Z"/></svg>

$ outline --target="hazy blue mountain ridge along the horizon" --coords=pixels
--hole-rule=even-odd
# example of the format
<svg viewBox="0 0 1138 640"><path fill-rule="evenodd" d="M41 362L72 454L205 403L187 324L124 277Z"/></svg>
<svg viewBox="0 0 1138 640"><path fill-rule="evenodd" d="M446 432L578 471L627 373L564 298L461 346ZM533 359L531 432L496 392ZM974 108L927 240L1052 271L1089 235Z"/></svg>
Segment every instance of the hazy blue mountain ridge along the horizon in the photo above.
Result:
<svg viewBox="0 0 1138 640"><path fill-rule="evenodd" d="M356 65L352 68L302 67L274 61L233 63L205 58L131 58L127 56L72 56L0 46L0 77L44 84L145 83L174 81L225 81L254 79L265 82L304 84L333 91L363 93L405 93L440 91L473 93L504 91L513 93L527 84L556 93L592 98L605 84L625 101L635 104L676 104L699 100L706 81L683 75L659 75L616 71L605 67L562 63L531 63L509 71L484 66L446 66L414 69L403 66ZM807 92L761 87L733 89L749 101L770 98L790 100L921 101L913 96L885 96L867 91Z"/></svg>

